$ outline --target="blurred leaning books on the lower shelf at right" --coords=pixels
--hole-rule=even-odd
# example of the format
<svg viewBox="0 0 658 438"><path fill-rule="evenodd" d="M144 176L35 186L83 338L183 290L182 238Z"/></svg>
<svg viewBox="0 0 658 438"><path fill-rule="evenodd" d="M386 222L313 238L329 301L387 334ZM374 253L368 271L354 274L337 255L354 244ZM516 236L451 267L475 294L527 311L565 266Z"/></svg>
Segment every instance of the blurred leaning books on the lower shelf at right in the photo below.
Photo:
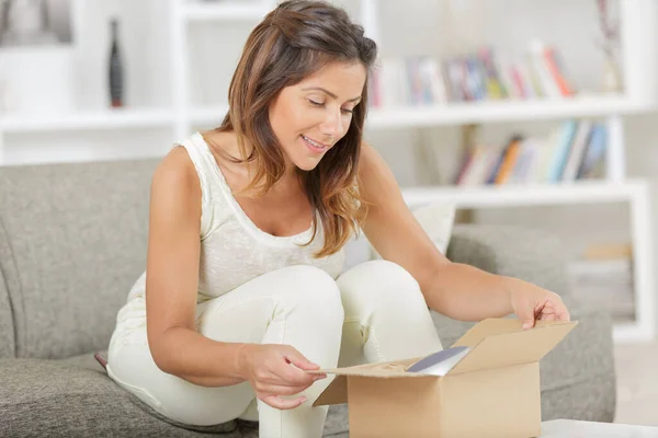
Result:
<svg viewBox="0 0 658 438"><path fill-rule="evenodd" d="M466 148L454 180L458 186L557 183L597 177L608 146L606 127L567 120L545 138L513 135L504 145Z"/></svg>

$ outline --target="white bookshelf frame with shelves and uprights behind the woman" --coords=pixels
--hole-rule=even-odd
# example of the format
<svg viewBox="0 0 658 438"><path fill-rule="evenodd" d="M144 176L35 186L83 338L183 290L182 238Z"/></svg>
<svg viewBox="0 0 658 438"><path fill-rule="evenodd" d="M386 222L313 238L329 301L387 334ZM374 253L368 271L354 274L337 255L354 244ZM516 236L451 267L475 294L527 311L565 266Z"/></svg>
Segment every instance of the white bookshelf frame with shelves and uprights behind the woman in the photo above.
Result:
<svg viewBox="0 0 658 438"><path fill-rule="evenodd" d="M366 34L379 45L386 41L386 30L379 26L379 7L384 0L359 0L360 21ZM386 0L388 1L388 0ZM646 84L650 82L644 68L643 47L647 44L647 24L651 0L621 1L623 65L625 92L620 95L578 95L569 99L534 101L499 101L450 103L423 107L373 108L368 113L366 129L427 128L465 124L495 124L524 120L559 120L572 117L604 118L609 128L606 181L577 182L555 185L502 187L419 187L406 189L409 204L452 201L461 208L506 208L512 206L582 205L591 203L627 201L632 211L634 243L636 320L632 324L615 326L617 341L646 341L655 337L654 258L650 250L651 224L649 219L649 191L644 181L626 178L626 148L623 116L651 107ZM37 131L76 131L107 129L171 128L175 139L186 137L200 125L217 125L227 112L223 102L196 106L192 103L189 71L189 34L196 25L236 24L253 26L276 3L275 0L169 0L163 25L169 41L169 72L171 83L170 106L126 108L120 111L65 113L57 115L3 116L0 118L0 164L3 163L3 145L10 148L7 135L16 136ZM158 4L159 7L159 4ZM242 44L242 42L236 42ZM226 84L228 87L228 84Z"/></svg>

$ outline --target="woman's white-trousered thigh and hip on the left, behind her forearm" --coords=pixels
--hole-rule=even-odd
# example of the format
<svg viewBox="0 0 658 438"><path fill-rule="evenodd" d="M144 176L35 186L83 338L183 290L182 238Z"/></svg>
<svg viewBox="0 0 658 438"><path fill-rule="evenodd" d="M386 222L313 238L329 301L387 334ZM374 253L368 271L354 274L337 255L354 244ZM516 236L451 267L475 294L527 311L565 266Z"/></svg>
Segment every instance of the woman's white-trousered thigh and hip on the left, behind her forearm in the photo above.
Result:
<svg viewBox="0 0 658 438"><path fill-rule="evenodd" d="M342 322L343 318L338 287L319 269L292 266L268 273L198 304L196 313L198 333L214 341L299 344L299 349L310 356L310 360L334 361L325 365L327 367L334 367L338 360L340 324L336 334L328 333L336 338L334 359L321 350L325 347L316 350L316 346L324 343L311 339L314 327L322 330L322 325L331 324L308 324L331 313L329 319ZM280 321L273 323L277 316L281 316ZM252 403L256 395L248 382L208 388L161 371L148 347L145 321L144 315L143 324L133 324L138 326L133 333L113 336L107 371L118 384L160 414L181 423L213 425L237 417L256 419ZM294 325L304 330L294 330ZM318 334L317 330L315 334ZM322 359L327 356L331 357Z"/></svg>

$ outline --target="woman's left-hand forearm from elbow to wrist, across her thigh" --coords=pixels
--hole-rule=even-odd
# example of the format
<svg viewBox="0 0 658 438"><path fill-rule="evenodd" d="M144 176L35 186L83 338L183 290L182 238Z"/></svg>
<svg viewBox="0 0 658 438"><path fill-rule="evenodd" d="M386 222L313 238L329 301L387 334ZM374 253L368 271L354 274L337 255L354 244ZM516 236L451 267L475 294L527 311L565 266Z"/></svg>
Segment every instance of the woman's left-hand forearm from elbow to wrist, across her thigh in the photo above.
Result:
<svg viewBox="0 0 658 438"><path fill-rule="evenodd" d="M245 381L241 351L247 344L220 343L188 327L167 330L151 355L158 368L203 387L228 387Z"/></svg>

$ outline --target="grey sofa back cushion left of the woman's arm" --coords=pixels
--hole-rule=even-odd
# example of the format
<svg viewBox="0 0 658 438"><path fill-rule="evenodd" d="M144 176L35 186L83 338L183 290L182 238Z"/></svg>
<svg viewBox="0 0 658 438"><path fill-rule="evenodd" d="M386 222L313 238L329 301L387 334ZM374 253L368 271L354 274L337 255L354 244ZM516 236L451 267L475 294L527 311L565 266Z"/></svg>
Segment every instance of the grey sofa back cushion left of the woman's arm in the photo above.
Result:
<svg viewBox="0 0 658 438"><path fill-rule="evenodd" d="M146 266L156 165L0 169L0 221L11 251L0 245L0 270L13 304L18 357L106 348L116 312Z"/></svg>

